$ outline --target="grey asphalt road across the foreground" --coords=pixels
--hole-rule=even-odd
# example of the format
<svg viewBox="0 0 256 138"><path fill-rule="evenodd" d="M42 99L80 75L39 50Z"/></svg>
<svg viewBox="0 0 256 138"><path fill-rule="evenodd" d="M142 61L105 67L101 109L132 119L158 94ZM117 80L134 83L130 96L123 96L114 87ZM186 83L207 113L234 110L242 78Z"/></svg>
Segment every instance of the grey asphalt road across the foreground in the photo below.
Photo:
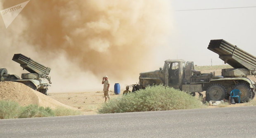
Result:
<svg viewBox="0 0 256 138"><path fill-rule="evenodd" d="M256 106L0 120L0 138L256 138Z"/></svg>

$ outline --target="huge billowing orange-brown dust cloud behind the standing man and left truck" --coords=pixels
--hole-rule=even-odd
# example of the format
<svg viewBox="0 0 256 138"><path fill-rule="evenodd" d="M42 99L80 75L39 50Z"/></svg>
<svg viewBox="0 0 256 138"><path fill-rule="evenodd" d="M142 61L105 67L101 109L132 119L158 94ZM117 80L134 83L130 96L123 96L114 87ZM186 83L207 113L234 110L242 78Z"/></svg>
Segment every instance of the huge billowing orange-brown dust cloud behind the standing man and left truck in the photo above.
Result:
<svg viewBox="0 0 256 138"><path fill-rule="evenodd" d="M1 0L0 8L27 0ZM52 68L49 92L102 90L112 82L138 82L168 47L169 0L30 0L6 29L0 21L0 67L20 75L11 61L22 53ZM163 59L164 61L164 59ZM157 68L156 68L157 69ZM24 72L24 71L23 71Z"/></svg>

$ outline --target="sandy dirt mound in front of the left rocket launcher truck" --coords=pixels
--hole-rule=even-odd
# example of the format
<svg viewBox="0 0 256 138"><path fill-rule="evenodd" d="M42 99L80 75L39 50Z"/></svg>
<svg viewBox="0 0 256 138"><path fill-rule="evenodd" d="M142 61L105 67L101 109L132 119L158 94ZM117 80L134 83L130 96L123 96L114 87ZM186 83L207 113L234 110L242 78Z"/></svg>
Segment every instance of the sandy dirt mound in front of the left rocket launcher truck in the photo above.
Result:
<svg viewBox="0 0 256 138"><path fill-rule="evenodd" d="M58 106L75 109L18 82L0 82L0 100L15 101L21 106L37 104L52 109Z"/></svg>

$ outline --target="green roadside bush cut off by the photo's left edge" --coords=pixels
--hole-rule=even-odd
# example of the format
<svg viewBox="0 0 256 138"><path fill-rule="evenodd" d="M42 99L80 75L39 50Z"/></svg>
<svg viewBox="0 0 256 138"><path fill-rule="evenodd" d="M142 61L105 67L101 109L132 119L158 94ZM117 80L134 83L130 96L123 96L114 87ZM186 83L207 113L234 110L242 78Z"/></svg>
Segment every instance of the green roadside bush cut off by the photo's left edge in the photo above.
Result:
<svg viewBox="0 0 256 138"><path fill-rule="evenodd" d="M0 119L18 118L21 108L13 101L0 100Z"/></svg>

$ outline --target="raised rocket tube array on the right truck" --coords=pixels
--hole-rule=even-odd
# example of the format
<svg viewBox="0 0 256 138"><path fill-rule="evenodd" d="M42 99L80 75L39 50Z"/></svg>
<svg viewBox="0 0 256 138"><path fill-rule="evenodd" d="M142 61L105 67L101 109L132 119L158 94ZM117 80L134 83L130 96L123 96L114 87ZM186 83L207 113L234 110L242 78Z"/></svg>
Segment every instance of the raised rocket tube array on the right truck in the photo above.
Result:
<svg viewBox="0 0 256 138"><path fill-rule="evenodd" d="M219 58L233 68L256 71L256 57L225 40L211 40L208 49L219 54Z"/></svg>

